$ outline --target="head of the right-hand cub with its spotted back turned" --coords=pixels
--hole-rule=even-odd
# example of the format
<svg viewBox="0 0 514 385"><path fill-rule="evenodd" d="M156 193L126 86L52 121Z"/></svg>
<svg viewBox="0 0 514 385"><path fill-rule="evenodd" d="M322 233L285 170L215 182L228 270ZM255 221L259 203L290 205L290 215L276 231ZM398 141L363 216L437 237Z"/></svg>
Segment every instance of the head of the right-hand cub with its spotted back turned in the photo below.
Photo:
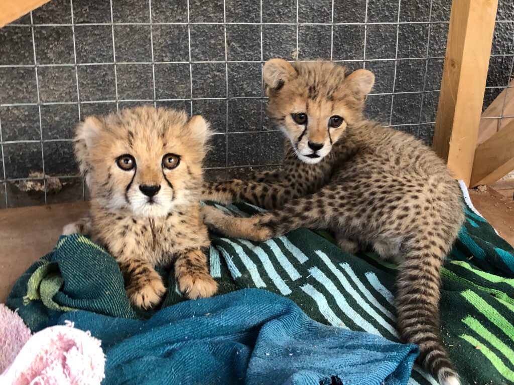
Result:
<svg viewBox="0 0 514 385"><path fill-rule="evenodd" d="M320 162L346 127L362 119L375 76L364 69L345 72L331 62L297 65L272 59L264 65L270 116L305 163Z"/></svg>

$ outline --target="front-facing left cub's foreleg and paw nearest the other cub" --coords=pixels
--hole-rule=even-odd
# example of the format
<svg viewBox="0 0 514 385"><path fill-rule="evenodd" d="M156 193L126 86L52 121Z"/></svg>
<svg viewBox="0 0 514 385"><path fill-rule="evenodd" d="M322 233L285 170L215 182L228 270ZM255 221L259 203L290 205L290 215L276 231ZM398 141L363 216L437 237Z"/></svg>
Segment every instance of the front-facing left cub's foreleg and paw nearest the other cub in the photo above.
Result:
<svg viewBox="0 0 514 385"><path fill-rule="evenodd" d="M178 255L175 279L180 292L189 299L210 297L218 289L218 284L209 274L207 257L199 249L190 249Z"/></svg>

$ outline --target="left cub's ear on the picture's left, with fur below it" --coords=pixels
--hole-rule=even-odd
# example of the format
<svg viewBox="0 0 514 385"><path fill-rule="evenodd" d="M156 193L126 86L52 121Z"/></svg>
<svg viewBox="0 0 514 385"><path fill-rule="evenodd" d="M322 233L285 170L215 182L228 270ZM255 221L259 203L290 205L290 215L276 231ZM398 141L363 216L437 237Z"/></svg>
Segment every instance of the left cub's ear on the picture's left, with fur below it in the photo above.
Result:
<svg viewBox="0 0 514 385"><path fill-rule="evenodd" d="M90 150L94 146L102 130L102 122L95 117L87 117L80 123L75 132L75 155L79 162L81 174L86 178L86 185L89 186L90 170L92 168Z"/></svg>

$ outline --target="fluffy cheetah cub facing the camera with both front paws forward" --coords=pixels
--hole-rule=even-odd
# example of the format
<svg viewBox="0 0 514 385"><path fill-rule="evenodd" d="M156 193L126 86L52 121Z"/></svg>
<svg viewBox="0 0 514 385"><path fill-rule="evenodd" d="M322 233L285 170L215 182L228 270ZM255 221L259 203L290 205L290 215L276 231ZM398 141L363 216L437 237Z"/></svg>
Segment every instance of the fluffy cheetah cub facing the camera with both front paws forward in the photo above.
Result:
<svg viewBox="0 0 514 385"><path fill-rule="evenodd" d="M217 284L204 249L199 211L201 162L208 124L185 112L139 107L89 117L75 137L80 170L91 192L90 219L65 226L106 246L120 266L127 296L149 308L166 291L156 265L174 261L178 288L209 297Z"/></svg>

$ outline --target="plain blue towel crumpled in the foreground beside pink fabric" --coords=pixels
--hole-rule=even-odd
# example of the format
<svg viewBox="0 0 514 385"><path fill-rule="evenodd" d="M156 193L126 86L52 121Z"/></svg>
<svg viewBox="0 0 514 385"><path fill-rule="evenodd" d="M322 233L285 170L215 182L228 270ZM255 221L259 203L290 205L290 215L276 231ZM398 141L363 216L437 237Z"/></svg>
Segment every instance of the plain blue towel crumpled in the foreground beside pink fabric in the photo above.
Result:
<svg viewBox="0 0 514 385"><path fill-rule="evenodd" d="M149 320L63 314L102 341L111 384L400 385L418 348L327 326L260 289L185 301Z"/></svg>

